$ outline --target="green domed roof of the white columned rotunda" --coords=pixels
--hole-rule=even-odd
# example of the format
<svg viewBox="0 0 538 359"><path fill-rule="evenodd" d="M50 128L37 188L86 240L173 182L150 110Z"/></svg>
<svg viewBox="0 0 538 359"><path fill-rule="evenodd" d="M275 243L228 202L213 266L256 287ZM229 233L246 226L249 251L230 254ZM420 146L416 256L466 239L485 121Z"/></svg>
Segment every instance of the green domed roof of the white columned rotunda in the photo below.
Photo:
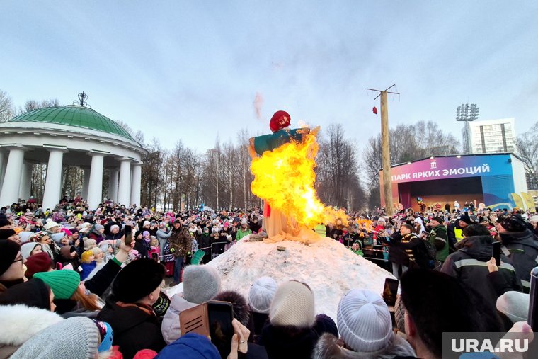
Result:
<svg viewBox="0 0 538 359"><path fill-rule="evenodd" d="M110 118L83 106L38 108L18 115L9 122L43 122L74 126L118 135L134 141L123 127Z"/></svg>

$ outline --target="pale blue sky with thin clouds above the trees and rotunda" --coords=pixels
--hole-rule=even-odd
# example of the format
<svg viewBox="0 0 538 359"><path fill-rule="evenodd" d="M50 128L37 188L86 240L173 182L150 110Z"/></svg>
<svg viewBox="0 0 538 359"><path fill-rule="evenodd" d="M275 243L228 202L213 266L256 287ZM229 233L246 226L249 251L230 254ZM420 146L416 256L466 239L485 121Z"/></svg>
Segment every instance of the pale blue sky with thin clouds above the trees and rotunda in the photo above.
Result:
<svg viewBox="0 0 538 359"><path fill-rule="evenodd" d="M361 145L380 130L367 87L396 84L391 125L433 120L461 141L464 102L517 133L538 120L537 18L538 1L4 0L0 89L16 106L84 90L146 139L204 152L269 132L276 110Z"/></svg>

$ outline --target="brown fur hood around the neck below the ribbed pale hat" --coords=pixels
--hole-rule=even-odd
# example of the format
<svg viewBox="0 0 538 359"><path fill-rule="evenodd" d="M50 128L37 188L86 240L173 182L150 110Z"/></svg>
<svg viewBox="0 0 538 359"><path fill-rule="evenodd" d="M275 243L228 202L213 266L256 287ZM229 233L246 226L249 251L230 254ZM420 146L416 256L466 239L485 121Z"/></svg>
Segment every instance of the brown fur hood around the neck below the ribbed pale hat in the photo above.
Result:
<svg viewBox="0 0 538 359"><path fill-rule="evenodd" d="M416 356L411 345L400 336L393 335L389 346L383 351L373 353L362 353L352 351L340 346L341 342L332 334L324 334L319 338L316 348L314 348L313 359L391 359L395 356Z"/></svg>

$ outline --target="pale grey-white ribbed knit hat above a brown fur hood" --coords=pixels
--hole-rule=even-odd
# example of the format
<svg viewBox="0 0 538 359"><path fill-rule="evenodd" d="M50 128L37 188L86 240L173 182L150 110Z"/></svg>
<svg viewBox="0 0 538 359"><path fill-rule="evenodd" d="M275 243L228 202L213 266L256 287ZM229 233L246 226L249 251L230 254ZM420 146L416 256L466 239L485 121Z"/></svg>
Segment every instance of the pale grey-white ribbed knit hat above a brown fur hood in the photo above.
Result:
<svg viewBox="0 0 538 359"><path fill-rule="evenodd" d="M347 292L338 303L336 315L340 336L354 351L379 351L392 337L389 308L380 295L370 290Z"/></svg>

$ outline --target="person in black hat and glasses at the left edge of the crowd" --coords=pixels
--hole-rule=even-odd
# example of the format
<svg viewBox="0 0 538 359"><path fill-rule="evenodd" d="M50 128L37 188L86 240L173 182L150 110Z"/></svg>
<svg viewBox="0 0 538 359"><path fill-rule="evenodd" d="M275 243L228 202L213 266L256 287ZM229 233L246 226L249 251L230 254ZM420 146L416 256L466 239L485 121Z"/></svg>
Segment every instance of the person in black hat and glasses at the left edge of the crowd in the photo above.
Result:
<svg viewBox="0 0 538 359"><path fill-rule="evenodd" d="M25 282L25 261L20 244L8 239L0 240L0 293Z"/></svg>

